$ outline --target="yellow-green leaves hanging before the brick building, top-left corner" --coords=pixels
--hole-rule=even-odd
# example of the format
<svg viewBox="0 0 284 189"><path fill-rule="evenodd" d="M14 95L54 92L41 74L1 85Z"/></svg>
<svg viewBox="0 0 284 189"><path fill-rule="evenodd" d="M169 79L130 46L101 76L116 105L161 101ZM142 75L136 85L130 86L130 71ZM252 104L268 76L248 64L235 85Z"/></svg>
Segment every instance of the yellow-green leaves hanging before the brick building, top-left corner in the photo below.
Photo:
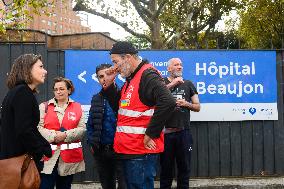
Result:
<svg viewBox="0 0 284 189"><path fill-rule="evenodd" d="M31 13L49 14L48 7L54 1L50 0L2 0L4 8L0 8L0 33L6 28L23 28L32 19Z"/></svg>

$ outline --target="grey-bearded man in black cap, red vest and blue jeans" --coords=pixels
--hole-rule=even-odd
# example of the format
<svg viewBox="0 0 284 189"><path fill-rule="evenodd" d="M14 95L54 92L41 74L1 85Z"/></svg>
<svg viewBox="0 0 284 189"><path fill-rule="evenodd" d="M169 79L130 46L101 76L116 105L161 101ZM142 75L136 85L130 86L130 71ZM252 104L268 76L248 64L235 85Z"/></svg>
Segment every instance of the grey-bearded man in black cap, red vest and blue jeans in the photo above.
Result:
<svg viewBox="0 0 284 189"><path fill-rule="evenodd" d="M175 100L158 71L138 57L128 42L110 50L111 72L126 78L121 93L108 88L109 102L118 110L114 150L122 159L128 189L154 188L158 154L164 150L163 128Z"/></svg>

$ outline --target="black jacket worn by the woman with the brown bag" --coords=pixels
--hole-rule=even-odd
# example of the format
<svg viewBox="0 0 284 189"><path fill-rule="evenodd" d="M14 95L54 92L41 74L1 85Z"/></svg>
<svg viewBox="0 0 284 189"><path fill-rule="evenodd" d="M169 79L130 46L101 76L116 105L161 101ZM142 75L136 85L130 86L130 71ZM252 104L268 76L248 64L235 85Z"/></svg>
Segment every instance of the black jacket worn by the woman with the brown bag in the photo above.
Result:
<svg viewBox="0 0 284 189"><path fill-rule="evenodd" d="M51 157L49 143L37 129L39 107L33 91L25 83L9 90L2 103L0 159L31 154L36 162Z"/></svg>

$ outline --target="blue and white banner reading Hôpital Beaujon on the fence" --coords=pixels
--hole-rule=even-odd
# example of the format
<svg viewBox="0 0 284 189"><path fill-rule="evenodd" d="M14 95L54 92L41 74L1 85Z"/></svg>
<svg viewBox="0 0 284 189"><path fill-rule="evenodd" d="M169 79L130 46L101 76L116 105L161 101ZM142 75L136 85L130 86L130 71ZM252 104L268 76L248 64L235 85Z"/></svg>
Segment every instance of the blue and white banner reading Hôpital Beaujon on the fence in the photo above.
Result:
<svg viewBox="0 0 284 189"><path fill-rule="evenodd" d="M240 117L232 119L224 112L218 120L278 119L275 51L151 50L140 51L139 56L149 60L163 77L167 76L167 61L180 58L183 77L191 80L199 93L199 115L222 105L219 108L239 113ZM95 68L101 63L111 64L108 51L65 51L65 76L74 82L74 100L89 105L92 95L99 92ZM118 77L117 82L122 85L124 80Z"/></svg>

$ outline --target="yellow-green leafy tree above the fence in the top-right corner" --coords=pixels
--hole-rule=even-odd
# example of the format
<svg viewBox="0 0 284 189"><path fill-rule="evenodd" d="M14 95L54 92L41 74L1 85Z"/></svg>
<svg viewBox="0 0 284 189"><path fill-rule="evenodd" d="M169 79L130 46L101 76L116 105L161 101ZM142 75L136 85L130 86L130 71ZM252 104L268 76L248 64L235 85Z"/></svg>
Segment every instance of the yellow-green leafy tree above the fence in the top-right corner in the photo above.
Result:
<svg viewBox="0 0 284 189"><path fill-rule="evenodd" d="M239 35L245 48L283 48L284 1L244 0L240 11Z"/></svg>

